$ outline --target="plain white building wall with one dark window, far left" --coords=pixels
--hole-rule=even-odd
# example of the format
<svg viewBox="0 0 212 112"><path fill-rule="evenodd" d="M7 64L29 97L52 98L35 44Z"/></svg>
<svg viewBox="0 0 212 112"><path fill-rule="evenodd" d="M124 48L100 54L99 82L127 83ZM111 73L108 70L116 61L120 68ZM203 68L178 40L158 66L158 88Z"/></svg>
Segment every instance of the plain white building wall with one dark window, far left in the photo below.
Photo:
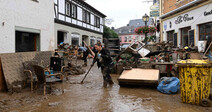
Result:
<svg viewBox="0 0 212 112"><path fill-rule="evenodd" d="M0 53L54 50L52 0L0 0Z"/></svg>

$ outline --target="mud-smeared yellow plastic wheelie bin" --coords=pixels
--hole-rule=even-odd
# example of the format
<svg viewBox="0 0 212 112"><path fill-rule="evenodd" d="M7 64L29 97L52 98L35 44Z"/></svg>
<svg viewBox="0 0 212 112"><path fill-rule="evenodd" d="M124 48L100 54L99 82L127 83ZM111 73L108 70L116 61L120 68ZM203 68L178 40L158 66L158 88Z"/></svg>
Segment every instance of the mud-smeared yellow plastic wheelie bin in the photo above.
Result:
<svg viewBox="0 0 212 112"><path fill-rule="evenodd" d="M177 63L183 103L209 106L212 66L207 60L182 60Z"/></svg>

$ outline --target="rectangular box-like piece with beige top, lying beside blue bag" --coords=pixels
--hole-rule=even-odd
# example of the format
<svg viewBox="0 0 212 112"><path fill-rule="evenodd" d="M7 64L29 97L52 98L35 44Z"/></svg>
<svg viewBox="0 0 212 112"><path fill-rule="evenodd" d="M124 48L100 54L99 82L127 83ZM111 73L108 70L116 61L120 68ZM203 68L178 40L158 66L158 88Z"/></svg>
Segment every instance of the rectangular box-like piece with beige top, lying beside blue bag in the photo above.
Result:
<svg viewBox="0 0 212 112"><path fill-rule="evenodd" d="M124 70L118 78L119 85L157 85L159 70L133 68Z"/></svg>

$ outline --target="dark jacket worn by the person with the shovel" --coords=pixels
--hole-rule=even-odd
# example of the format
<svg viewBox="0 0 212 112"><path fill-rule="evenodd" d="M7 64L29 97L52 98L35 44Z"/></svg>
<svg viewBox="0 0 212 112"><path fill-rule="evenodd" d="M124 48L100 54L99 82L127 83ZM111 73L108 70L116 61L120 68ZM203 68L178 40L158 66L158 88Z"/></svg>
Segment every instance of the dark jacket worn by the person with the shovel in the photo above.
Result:
<svg viewBox="0 0 212 112"><path fill-rule="evenodd" d="M98 67L111 66L112 58L110 57L110 52L107 49L102 48L102 50L100 51L101 59L97 58L97 54L98 54L98 52L95 52L95 57L94 57L94 60L93 60L93 64L97 61L97 66Z"/></svg>

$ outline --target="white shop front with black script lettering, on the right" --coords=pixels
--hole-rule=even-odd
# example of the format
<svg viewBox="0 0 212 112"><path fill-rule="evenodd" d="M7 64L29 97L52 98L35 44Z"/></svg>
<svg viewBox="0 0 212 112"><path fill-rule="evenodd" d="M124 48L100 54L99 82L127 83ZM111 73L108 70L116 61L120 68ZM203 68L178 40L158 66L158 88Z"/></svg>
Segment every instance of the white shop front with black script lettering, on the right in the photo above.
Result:
<svg viewBox="0 0 212 112"><path fill-rule="evenodd" d="M210 44L212 1L195 5L179 13L177 10L161 16L161 41L173 41L173 44L178 47L191 44L197 46L198 41L202 40Z"/></svg>

